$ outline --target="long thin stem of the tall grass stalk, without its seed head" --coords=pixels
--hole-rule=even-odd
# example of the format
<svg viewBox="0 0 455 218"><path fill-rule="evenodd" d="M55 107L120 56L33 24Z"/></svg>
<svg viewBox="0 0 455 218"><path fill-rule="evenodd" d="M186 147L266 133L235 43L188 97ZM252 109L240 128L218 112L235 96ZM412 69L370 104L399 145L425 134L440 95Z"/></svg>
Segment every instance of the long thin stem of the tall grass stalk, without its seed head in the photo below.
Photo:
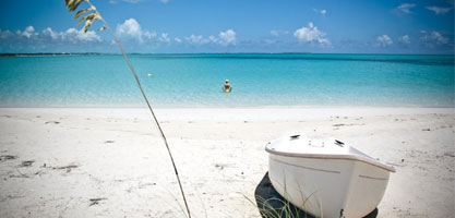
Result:
<svg viewBox="0 0 455 218"><path fill-rule="evenodd" d="M93 7L93 4L92 4L92 2L89 2L89 0L87 0L87 3L88 3L91 7ZM96 9L95 9L95 11L97 11L97 12L99 13L99 11L98 11L98 10L96 10ZM100 14L100 13L99 13L99 14ZM121 46L121 44L120 44L120 40L116 37L116 35L113 34L112 29L109 27L109 25L107 24L107 22L105 21L105 19L103 19L103 16L101 16L101 21L103 21L103 23L105 24L106 28L109 31L109 33L110 33L110 35L112 36L113 40L116 41L116 45L120 48L120 51L121 51L121 53L123 55L123 59L124 59L124 61L127 61L127 64L128 64L128 66L130 68L130 71L131 71L131 73L133 74L134 80L136 81L139 88L141 89L141 94L142 94L142 96L144 97L144 100L145 100L145 102L146 102L146 104L147 104L147 106L148 106L148 110L149 110L149 111L151 111L151 113L152 113L152 117L153 117L153 119L154 119L154 121L155 121L155 123L156 123L156 126L158 128L159 133L161 134L163 141L165 142L165 145L166 145L166 148L167 148L168 155L169 155L169 157L170 157L170 161L172 162L173 171L175 171L175 173L176 173L177 181L178 181L178 183L179 183L180 192L181 192L182 197L183 197L183 202L184 202L184 206L185 206L185 208L187 208L188 217L189 217L189 218L191 218L190 208L189 208L189 206L188 206L188 203L187 203L187 197L184 196L184 192L183 192L183 186L182 186L182 184L181 184L181 182L180 182L179 172L178 172L178 170L177 170L176 162L173 161L172 153L170 152L169 144L167 143L167 140L166 140L165 133L163 132L163 129L161 129L161 126L159 125L158 119L156 119L155 112L153 111L152 106L151 106L151 104L148 102L147 96L145 95L145 92L144 92L144 89L142 88L141 82L139 81L137 74L136 74L136 73L135 73L135 71L134 71L133 64L131 64L130 59L129 59L129 58L128 58L128 56L127 56L127 52L124 52L123 47L122 47L122 46Z"/></svg>

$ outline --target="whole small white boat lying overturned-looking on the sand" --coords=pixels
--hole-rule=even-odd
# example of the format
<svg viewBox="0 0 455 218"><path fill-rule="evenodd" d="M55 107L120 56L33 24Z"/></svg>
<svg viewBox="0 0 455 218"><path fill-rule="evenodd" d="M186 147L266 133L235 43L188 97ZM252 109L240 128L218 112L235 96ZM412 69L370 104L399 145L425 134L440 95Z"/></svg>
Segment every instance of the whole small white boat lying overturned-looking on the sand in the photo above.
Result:
<svg viewBox="0 0 455 218"><path fill-rule="evenodd" d="M316 217L360 218L381 202L395 169L337 140L291 135L270 142L268 177L275 190Z"/></svg>

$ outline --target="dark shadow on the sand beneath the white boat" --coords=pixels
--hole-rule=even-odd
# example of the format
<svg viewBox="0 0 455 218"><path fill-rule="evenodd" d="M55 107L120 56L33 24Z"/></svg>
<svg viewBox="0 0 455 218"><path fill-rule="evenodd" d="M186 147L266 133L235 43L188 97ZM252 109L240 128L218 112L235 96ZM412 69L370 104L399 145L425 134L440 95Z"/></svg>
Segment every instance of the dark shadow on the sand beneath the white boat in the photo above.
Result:
<svg viewBox="0 0 455 218"><path fill-rule="evenodd" d="M282 195L273 187L268 179L268 172L265 173L261 182L254 191L258 209L263 218L279 218L279 217L301 217L315 218L307 214L292 204L288 203ZM378 216L378 208L371 211L363 218L375 218Z"/></svg>

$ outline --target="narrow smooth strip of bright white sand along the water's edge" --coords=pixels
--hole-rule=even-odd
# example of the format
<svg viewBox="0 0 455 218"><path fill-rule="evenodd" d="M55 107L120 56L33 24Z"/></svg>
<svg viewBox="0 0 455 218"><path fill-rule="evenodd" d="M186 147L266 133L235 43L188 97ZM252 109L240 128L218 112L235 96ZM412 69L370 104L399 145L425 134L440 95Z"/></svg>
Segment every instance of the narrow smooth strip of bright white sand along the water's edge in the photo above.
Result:
<svg viewBox="0 0 455 218"><path fill-rule="evenodd" d="M239 108L153 108L157 118L166 120L182 119L258 119L289 120L294 118L322 119L334 116L387 116L387 114L426 114L455 113L455 108L428 107L239 107ZM69 113L86 116L119 116L122 118L147 118L148 108L1 108L0 111L21 111L40 113ZM214 117L211 113L216 113Z"/></svg>

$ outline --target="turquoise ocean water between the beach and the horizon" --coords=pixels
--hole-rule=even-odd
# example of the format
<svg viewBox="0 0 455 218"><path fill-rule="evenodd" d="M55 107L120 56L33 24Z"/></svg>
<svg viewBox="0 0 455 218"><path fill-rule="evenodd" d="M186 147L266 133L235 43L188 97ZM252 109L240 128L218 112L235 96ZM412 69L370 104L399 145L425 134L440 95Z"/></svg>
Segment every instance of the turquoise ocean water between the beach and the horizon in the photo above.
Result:
<svg viewBox="0 0 455 218"><path fill-rule="evenodd" d="M454 56L131 55L156 107L454 107ZM152 74L148 76L147 74ZM221 86L229 78L232 93ZM119 55L0 57L0 107L145 107Z"/></svg>

